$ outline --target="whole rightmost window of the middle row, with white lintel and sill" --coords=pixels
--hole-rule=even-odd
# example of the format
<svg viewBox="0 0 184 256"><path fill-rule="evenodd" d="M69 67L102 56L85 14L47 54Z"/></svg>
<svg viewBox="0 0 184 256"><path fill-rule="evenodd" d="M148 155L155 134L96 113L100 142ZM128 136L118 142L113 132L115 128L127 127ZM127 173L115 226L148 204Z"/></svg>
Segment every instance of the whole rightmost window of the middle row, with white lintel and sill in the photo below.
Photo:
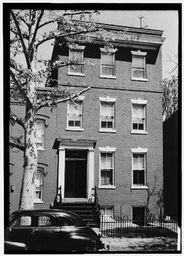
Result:
<svg viewBox="0 0 184 256"><path fill-rule="evenodd" d="M131 100L132 102L132 133L147 134L146 104L147 100Z"/></svg>

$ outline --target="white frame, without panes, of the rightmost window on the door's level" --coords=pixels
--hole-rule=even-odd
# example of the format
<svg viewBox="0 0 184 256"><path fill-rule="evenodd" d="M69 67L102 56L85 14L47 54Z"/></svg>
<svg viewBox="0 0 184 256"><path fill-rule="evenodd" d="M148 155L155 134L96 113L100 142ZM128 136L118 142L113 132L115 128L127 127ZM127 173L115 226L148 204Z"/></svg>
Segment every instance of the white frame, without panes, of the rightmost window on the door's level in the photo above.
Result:
<svg viewBox="0 0 184 256"><path fill-rule="evenodd" d="M131 189L147 189L147 148L131 148L132 151L132 186ZM145 169L145 184L134 184L134 154L143 154L144 155L144 169Z"/></svg>

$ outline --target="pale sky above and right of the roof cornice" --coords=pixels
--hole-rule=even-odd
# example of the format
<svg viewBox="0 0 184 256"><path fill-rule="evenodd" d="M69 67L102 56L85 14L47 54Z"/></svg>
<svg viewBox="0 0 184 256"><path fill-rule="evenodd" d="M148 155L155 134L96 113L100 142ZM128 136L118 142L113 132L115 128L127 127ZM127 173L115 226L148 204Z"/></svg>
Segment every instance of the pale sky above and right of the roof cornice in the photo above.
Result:
<svg viewBox="0 0 184 256"><path fill-rule="evenodd" d="M97 17L98 22L131 26L140 28L139 16L143 16L142 26L153 30L163 30L162 37L165 37L162 45L162 78L169 78L174 63L169 61L175 59L178 51L178 13L177 11L100 11ZM49 29L49 28L48 28ZM41 55L51 58L52 47L50 41L39 49Z"/></svg>

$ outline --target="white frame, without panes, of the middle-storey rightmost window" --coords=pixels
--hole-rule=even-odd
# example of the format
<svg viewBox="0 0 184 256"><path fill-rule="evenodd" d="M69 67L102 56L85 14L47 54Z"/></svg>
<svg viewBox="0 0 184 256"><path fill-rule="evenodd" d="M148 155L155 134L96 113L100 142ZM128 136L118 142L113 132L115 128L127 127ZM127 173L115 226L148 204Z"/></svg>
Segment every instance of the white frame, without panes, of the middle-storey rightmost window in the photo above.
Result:
<svg viewBox="0 0 184 256"><path fill-rule="evenodd" d="M141 100L141 99L137 99L137 100L130 100L132 102L132 134L144 134L147 135L147 100ZM143 105L144 106L144 113L145 113L145 120L144 120L144 129L143 130L135 130L133 129L133 108L135 105Z"/></svg>

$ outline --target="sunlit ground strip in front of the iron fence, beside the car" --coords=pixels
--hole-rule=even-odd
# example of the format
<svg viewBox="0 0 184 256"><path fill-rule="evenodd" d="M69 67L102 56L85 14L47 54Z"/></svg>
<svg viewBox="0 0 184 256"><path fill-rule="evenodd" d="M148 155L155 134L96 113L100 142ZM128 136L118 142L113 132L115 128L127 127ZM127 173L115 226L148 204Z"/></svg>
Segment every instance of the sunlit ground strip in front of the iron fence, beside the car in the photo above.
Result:
<svg viewBox="0 0 184 256"><path fill-rule="evenodd" d="M94 228L100 234L99 228ZM177 251L177 238L101 238L109 251Z"/></svg>

